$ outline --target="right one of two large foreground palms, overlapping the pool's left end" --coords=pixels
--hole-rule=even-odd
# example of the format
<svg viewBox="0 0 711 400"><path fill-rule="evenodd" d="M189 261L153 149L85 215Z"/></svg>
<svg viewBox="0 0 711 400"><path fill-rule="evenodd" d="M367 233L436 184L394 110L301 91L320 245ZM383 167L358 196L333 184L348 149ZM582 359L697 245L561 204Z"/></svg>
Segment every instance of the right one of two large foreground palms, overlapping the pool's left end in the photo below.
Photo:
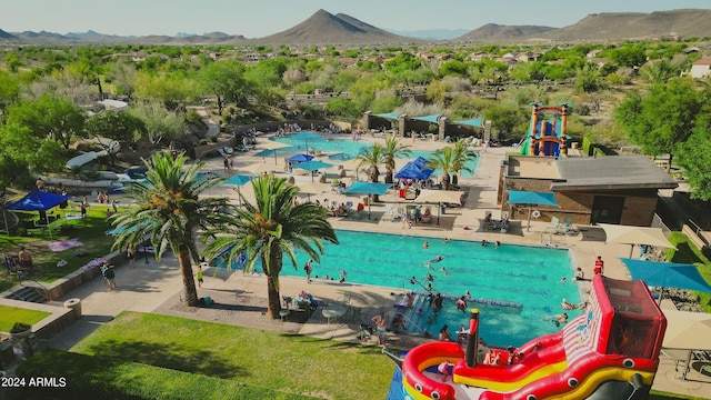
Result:
<svg viewBox="0 0 711 400"><path fill-rule="evenodd" d="M314 261L323 253L323 240L338 243L336 232L327 221L326 209L313 203L293 206L292 200L299 188L289 184L283 178L273 174L252 181L256 204L239 193L243 208L234 210L228 222L216 227L203 236L211 240L203 253L209 258L228 254L228 266L240 254L246 253L246 272L254 269L261 260L262 271L267 276L269 294L268 313L277 319L281 310L279 296L279 274L283 264L283 254L297 268L294 250L304 251Z"/></svg>

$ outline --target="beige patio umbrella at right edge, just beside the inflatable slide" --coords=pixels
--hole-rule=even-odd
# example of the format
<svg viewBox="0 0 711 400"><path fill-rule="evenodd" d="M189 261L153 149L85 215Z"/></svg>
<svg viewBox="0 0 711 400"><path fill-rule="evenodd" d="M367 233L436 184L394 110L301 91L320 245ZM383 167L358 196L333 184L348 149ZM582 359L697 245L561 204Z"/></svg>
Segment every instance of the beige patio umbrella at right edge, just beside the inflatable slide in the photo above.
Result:
<svg viewBox="0 0 711 400"><path fill-rule="evenodd" d="M692 350L711 350L711 314L664 310L667 331L662 347L667 349L688 350L687 364L681 379L687 379Z"/></svg>

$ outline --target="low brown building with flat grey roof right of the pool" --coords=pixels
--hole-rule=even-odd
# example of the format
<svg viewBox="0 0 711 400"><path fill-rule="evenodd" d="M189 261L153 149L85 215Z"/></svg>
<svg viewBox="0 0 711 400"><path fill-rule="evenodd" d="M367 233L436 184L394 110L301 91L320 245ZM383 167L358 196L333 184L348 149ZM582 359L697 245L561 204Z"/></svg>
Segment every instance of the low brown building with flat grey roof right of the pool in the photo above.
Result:
<svg viewBox="0 0 711 400"><path fill-rule="evenodd" d="M649 227L658 191L677 187L677 181L644 156L509 156L500 170L498 202L510 219L525 219L529 207L508 204L509 190L553 192L559 208L532 206L542 221L557 216L575 224Z"/></svg>

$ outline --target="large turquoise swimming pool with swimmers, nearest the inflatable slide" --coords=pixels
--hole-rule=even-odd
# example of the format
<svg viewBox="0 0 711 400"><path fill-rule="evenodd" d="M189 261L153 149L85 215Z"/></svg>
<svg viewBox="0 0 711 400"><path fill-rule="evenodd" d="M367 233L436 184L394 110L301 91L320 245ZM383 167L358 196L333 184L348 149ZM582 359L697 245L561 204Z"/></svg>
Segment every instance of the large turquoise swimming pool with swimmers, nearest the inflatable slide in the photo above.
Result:
<svg viewBox="0 0 711 400"><path fill-rule="evenodd" d="M422 333L423 329L437 334L442 324L454 332L461 324L468 326L469 314L457 310L454 298L470 291L473 298L518 302L522 308L501 307L470 302L469 308L480 310L480 336L500 346L520 346L541 334L560 328L542 321L545 316L563 312L561 300L580 302L578 284L571 279L573 268L568 250L493 243L482 247L479 242L421 237L397 236L338 230L340 244L324 243L320 263L313 263L312 278L333 277L338 281L341 270L348 273L347 282L393 288L395 293L417 291L425 293L425 276L434 278L432 288L450 298L443 310L430 318L432 310L424 299L407 313L409 330ZM424 241L429 249L423 249ZM442 261L431 263L440 254ZM302 266L308 256L298 253L298 269L284 259L282 276L306 277ZM441 271L444 267L447 274ZM417 278L411 283L412 277ZM567 277L565 282L561 282ZM316 278L313 278L317 280ZM334 283L337 284L337 283ZM306 289L306 288L304 288ZM422 308L422 312L417 311ZM393 308L394 310L394 308ZM565 311L572 319L579 311ZM430 321L428 321L428 319ZM429 322L429 323L428 323Z"/></svg>

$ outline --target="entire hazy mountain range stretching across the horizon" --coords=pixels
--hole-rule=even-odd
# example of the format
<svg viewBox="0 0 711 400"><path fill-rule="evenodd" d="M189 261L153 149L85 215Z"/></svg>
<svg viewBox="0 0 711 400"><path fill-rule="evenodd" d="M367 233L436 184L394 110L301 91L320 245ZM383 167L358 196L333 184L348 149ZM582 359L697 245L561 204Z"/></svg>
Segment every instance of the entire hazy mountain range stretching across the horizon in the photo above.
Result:
<svg viewBox="0 0 711 400"><path fill-rule="evenodd" d="M170 36L122 37L96 31L59 34L47 31L6 32L0 29L0 43L20 44L81 44L81 43L141 43L141 44L378 44L439 42L433 36L428 39L398 34L373 27L353 17L319 10L303 22L284 31L257 39L243 36L211 32L204 34L179 33ZM590 14L577 23L563 28L543 26L501 26L488 23L450 42L502 42L502 41L592 41L651 39L661 37L695 37L711 34L711 10L683 9L670 11L604 12Z"/></svg>

